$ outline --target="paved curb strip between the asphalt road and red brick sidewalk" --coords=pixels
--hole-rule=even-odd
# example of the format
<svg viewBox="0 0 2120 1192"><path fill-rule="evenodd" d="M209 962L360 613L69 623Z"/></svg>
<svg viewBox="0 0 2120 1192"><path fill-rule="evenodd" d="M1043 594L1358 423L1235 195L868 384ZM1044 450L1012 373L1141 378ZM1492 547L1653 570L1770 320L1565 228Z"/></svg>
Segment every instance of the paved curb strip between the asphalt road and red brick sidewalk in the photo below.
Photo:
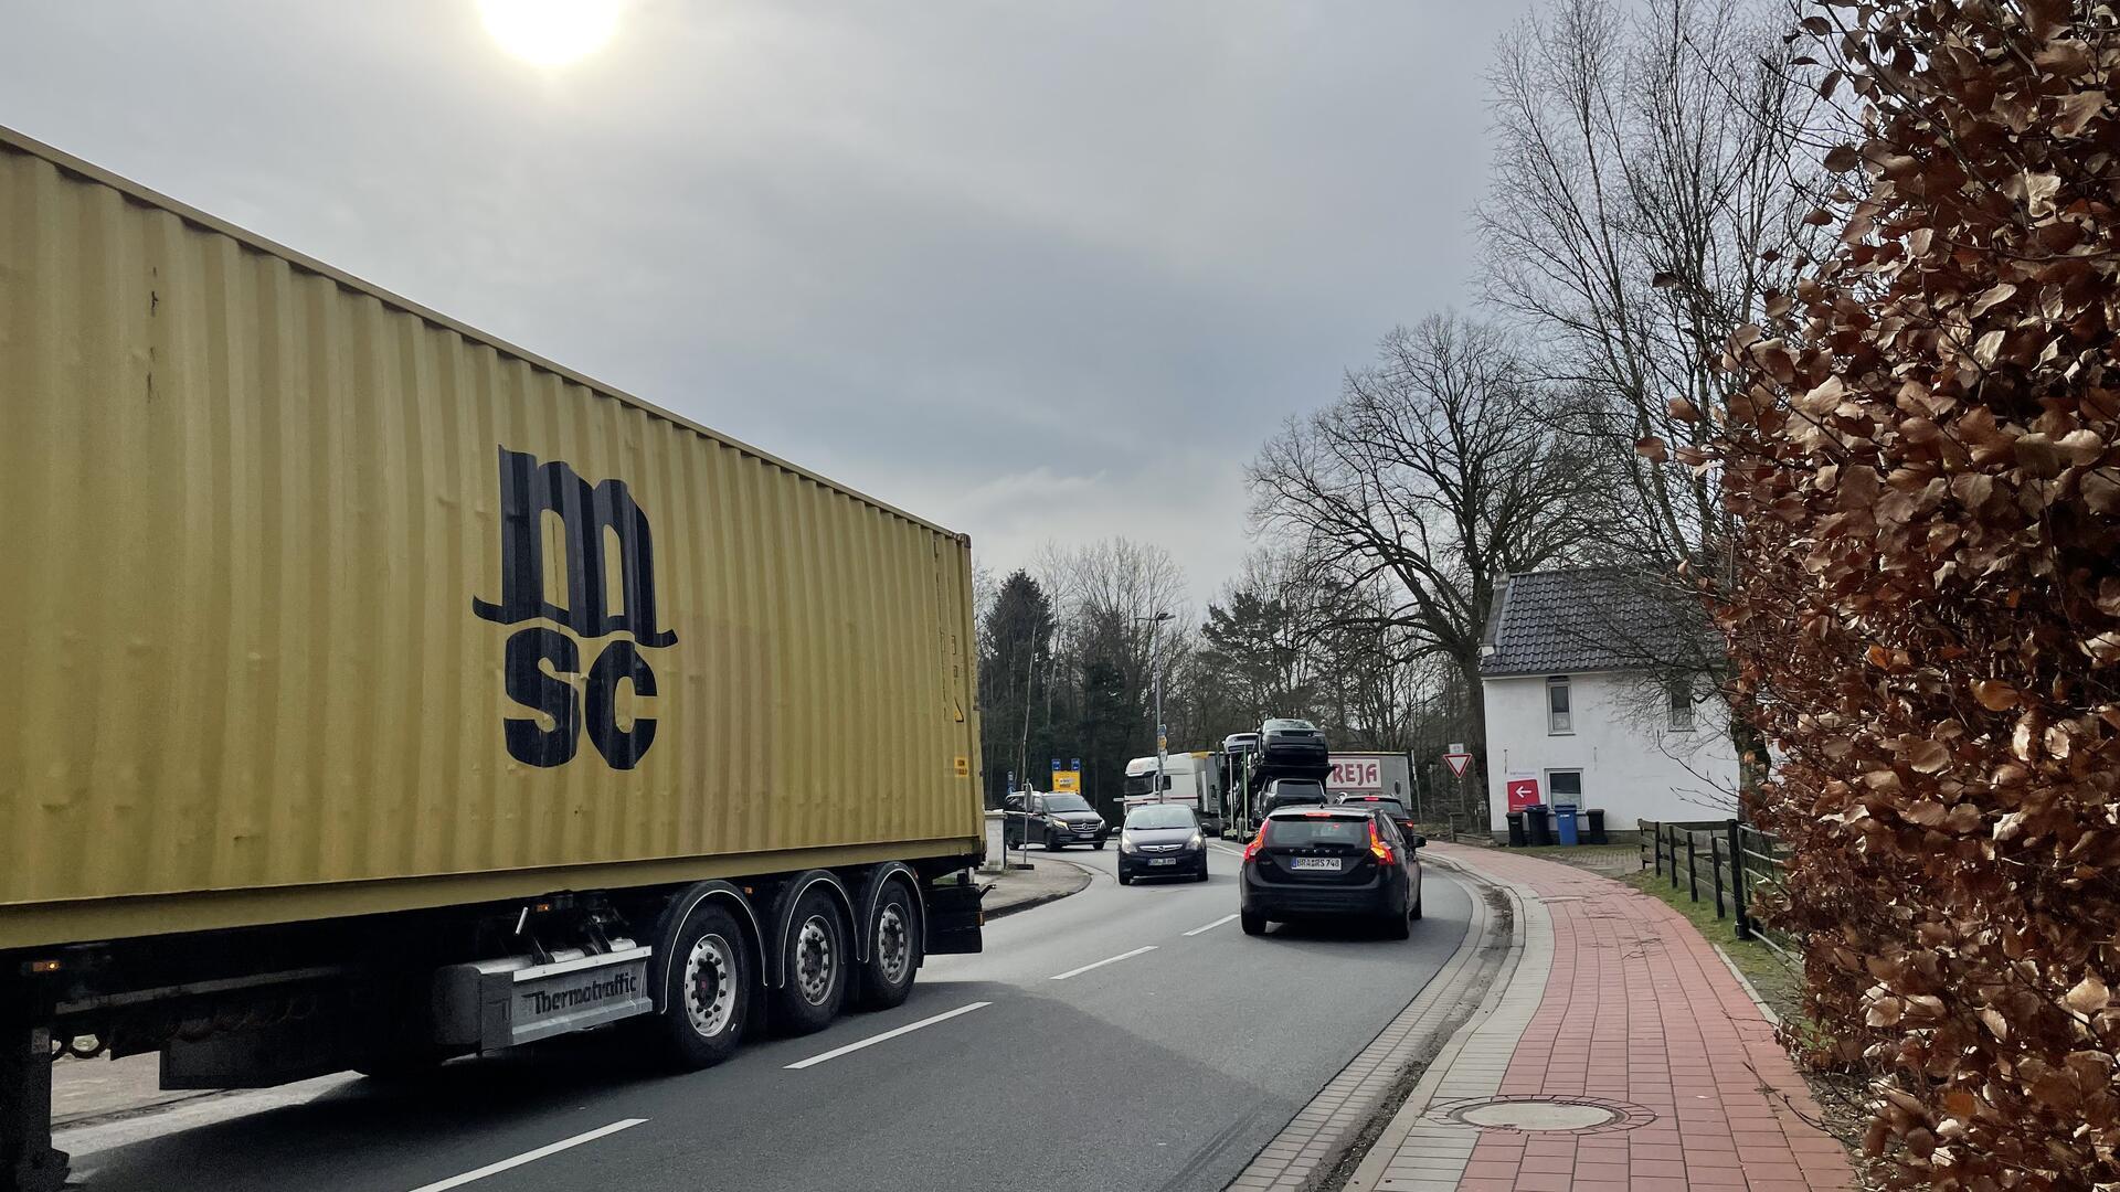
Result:
<svg viewBox="0 0 2120 1192"><path fill-rule="evenodd" d="M1314 1192L1331 1186L1350 1160L1374 1150L1374 1130L1397 1109L1408 1082L1416 1080L1416 1073L1425 1077L1427 1071L1437 1071L1437 1056L1463 1035L1456 1007L1471 997L1484 1007L1490 991L1505 988L1507 982L1497 978L1520 948L1520 927L1503 931L1501 914L1486 897L1495 882L1442 857L1433 863L1450 870L1452 880L1465 884L1471 895L1473 918L1465 940L1420 995L1230 1181L1230 1190ZM1503 897L1507 899L1507 893ZM1507 906L1512 923L1520 925L1520 908L1514 899ZM1469 1012L1469 1022L1478 1020L1480 1010Z"/></svg>

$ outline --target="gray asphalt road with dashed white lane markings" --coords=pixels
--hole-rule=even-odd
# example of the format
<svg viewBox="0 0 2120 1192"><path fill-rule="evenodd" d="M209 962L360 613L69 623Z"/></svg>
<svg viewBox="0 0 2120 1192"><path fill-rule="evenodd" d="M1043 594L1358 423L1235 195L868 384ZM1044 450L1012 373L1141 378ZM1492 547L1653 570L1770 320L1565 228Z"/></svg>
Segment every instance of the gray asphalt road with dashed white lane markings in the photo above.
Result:
<svg viewBox="0 0 2120 1192"><path fill-rule="evenodd" d="M1429 867L1410 942L1293 927L1253 940L1234 921L1234 851L1213 855L1204 884L1124 889L1115 851L1066 857L1096 872L1083 893L992 923L986 954L933 959L905 1005L746 1046L710 1071L655 1073L615 1060L608 1037L577 1037L452 1063L413 1088L337 1080L227 1120L129 1122L121 1145L76 1154L76 1179L87 1192L1213 1190L1420 993L1471 910Z"/></svg>

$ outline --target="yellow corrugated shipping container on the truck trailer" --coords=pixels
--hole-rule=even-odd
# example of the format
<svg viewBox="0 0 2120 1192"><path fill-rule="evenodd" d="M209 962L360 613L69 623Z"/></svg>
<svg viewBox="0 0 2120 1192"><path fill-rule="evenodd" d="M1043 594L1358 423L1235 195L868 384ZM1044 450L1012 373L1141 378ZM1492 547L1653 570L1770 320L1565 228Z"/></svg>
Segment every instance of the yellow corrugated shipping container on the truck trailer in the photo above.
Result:
<svg viewBox="0 0 2120 1192"><path fill-rule="evenodd" d="M0 129L0 948L982 851L967 539Z"/></svg>

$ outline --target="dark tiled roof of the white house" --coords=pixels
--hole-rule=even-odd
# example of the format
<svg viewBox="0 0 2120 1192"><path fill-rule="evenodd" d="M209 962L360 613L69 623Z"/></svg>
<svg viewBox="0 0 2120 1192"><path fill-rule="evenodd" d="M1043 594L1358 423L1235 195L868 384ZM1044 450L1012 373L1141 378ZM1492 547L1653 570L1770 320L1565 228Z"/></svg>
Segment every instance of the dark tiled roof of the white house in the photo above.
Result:
<svg viewBox="0 0 2120 1192"><path fill-rule="evenodd" d="M1707 615L1654 577L1620 568L1512 575L1486 621L1482 674L1688 666Z"/></svg>

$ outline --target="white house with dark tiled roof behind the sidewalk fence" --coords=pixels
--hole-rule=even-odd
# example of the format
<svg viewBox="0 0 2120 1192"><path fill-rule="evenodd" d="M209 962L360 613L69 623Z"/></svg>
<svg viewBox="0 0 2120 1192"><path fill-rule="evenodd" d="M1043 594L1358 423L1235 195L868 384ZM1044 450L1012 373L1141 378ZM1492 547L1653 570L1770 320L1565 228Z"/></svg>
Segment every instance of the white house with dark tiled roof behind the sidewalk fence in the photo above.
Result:
<svg viewBox="0 0 2120 1192"><path fill-rule="evenodd" d="M1671 609L1618 571L1512 575L1480 647L1488 812L1497 831L1535 783L1539 802L1637 819L1734 814L1736 749L1724 704L1675 679ZM1688 630L1694 632L1694 630ZM1713 632L1700 626L1698 632Z"/></svg>

